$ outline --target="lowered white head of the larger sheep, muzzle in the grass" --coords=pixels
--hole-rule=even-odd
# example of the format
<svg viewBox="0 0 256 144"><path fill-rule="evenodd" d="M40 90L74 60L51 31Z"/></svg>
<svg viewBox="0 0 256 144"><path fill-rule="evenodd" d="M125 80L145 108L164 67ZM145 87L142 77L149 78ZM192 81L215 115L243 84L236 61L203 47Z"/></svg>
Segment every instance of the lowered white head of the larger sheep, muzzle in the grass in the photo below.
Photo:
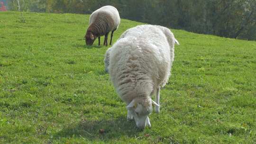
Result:
<svg viewBox="0 0 256 144"><path fill-rule="evenodd" d="M135 98L126 107L133 116L138 128L144 129L146 125L151 126L148 116L153 111L152 104L157 105L155 101L149 97L146 99Z"/></svg>

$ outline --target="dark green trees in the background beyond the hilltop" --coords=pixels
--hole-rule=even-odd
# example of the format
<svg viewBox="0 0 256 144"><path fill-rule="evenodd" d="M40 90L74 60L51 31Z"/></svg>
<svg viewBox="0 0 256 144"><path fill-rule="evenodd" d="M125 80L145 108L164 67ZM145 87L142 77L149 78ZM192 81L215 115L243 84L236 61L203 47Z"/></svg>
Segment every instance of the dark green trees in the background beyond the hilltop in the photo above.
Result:
<svg viewBox="0 0 256 144"><path fill-rule="evenodd" d="M91 14L112 5L121 18L195 33L256 40L256 0L19 0L23 11ZM9 0L17 10L17 0Z"/></svg>

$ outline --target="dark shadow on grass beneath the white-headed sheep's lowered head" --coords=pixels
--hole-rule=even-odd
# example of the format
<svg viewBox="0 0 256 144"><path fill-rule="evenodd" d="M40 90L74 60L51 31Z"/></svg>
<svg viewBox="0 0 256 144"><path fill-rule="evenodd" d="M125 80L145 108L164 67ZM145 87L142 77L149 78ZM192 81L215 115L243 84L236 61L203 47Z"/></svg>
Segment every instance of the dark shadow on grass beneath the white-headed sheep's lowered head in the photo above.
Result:
<svg viewBox="0 0 256 144"><path fill-rule="evenodd" d="M133 120L127 121L126 117L108 120L86 120L71 124L55 134L55 139L69 137L84 137L90 141L118 139L121 136L134 137L141 130L136 128Z"/></svg>

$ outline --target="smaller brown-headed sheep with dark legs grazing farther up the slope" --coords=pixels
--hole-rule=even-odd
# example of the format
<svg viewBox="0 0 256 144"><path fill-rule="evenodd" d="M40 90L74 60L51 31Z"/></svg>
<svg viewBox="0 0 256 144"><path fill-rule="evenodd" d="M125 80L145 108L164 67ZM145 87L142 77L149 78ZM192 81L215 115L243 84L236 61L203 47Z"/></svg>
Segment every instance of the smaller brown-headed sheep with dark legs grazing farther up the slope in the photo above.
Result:
<svg viewBox="0 0 256 144"><path fill-rule="evenodd" d="M104 6L95 10L90 16L90 26L84 36L86 45L92 45L97 37L99 39L99 45L101 45L101 36L103 35L105 35L103 45L108 45L108 35L110 31L110 45L112 45L113 33L118 28L119 24L119 12L115 7Z"/></svg>

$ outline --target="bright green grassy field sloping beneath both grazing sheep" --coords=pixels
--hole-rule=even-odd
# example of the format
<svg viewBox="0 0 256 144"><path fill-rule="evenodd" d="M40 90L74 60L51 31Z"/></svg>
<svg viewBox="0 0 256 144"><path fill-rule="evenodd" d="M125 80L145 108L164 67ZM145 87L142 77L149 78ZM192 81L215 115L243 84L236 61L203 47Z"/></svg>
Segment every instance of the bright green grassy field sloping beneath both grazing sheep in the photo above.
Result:
<svg viewBox="0 0 256 144"><path fill-rule="evenodd" d="M256 144L256 42L172 30L161 113L140 131L104 72L108 47L85 46L89 15L24 18L0 12L0 144ZM140 24L122 19L114 42Z"/></svg>

